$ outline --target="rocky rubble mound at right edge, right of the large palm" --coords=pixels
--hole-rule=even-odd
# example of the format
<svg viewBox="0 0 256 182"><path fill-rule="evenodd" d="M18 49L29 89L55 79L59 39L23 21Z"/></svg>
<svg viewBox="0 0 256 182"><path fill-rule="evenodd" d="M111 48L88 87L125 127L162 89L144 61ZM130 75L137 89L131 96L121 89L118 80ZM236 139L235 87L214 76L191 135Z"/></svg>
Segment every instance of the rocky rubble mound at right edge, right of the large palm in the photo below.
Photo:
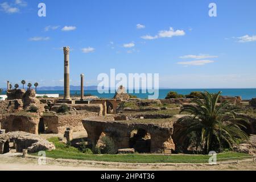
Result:
<svg viewBox="0 0 256 182"><path fill-rule="evenodd" d="M241 143L233 148L237 152L256 155L256 135L250 135L249 140L246 143Z"/></svg>

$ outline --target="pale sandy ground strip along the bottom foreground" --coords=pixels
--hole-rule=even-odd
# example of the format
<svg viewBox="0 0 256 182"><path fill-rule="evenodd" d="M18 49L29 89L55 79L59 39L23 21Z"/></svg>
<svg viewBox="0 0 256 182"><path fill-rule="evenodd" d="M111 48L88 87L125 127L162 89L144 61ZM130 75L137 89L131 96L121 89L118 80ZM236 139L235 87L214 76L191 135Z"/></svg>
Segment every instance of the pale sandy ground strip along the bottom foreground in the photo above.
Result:
<svg viewBox="0 0 256 182"><path fill-rule="evenodd" d="M256 170L256 162L232 164L124 164L93 162L72 159L49 159L45 165L38 164L38 158L15 156L15 154L0 155L0 170L14 171L107 171L107 170Z"/></svg>

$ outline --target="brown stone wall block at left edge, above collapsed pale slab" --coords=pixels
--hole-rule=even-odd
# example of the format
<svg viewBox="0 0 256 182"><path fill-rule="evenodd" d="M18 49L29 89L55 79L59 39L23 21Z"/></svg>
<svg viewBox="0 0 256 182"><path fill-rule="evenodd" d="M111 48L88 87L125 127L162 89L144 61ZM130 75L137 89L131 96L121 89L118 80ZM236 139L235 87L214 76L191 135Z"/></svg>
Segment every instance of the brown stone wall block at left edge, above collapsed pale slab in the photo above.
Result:
<svg viewBox="0 0 256 182"><path fill-rule="evenodd" d="M39 120L39 115L25 112L5 114L0 118L1 127L6 132L26 131L32 134L38 134Z"/></svg>

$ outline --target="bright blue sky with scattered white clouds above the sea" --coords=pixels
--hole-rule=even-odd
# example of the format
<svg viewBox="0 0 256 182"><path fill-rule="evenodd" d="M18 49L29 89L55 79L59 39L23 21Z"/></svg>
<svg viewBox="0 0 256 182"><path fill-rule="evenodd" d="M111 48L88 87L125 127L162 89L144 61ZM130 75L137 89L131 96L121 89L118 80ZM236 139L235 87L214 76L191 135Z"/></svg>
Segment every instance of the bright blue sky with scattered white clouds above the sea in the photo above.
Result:
<svg viewBox="0 0 256 182"><path fill-rule="evenodd" d="M254 0L0 0L0 87L63 85L61 47L69 46L71 85L80 73L97 85L115 68L159 73L165 88L256 88L255 9Z"/></svg>

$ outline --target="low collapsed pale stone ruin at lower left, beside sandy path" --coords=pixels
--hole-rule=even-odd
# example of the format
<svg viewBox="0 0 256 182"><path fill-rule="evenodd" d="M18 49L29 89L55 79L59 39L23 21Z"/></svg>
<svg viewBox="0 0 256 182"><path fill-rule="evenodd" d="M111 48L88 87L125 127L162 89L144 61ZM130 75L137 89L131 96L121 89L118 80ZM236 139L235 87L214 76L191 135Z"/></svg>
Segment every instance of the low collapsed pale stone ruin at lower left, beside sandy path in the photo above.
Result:
<svg viewBox="0 0 256 182"><path fill-rule="evenodd" d="M10 140L10 142L15 141L17 152L22 152L23 149L27 149L30 153L55 150L55 145L52 142L49 142L39 135L26 133L24 131L14 131L1 134L0 143L2 140Z"/></svg>

